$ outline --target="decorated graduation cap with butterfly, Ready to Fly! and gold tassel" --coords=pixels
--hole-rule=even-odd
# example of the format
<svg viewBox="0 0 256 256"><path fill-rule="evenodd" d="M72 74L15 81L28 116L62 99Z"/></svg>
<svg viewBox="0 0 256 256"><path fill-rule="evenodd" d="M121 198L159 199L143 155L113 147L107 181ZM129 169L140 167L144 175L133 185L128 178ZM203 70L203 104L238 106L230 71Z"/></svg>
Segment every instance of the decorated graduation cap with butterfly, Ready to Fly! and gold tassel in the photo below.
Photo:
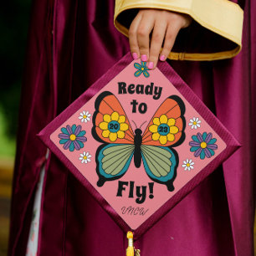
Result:
<svg viewBox="0 0 256 256"><path fill-rule="evenodd" d="M238 149L169 64L130 54L38 135L133 239Z"/></svg>

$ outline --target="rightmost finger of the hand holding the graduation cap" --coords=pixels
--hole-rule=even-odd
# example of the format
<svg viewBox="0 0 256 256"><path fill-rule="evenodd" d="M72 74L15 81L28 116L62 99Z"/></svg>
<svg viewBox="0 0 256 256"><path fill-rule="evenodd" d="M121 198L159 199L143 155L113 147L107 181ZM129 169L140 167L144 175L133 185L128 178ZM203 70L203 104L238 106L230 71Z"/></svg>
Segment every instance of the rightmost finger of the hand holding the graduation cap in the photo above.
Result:
<svg viewBox="0 0 256 256"><path fill-rule="evenodd" d="M179 27L173 27L172 25L167 26L165 42L159 58L161 61L165 61L170 54L179 30Z"/></svg>

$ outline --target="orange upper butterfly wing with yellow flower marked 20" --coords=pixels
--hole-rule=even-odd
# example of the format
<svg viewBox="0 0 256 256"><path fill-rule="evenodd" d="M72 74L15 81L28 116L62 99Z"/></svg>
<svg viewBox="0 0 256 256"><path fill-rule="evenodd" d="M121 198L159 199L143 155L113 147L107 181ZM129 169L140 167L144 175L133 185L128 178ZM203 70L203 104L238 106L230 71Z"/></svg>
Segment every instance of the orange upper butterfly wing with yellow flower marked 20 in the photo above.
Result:
<svg viewBox="0 0 256 256"><path fill-rule="evenodd" d="M119 131L111 132L111 121L112 126L115 122L119 124ZM98 141L100 139L100 141L107 143L134 143L134 132L131 129L125 110L123 110L115 95L111 94L109 91L103 92L97 97L97 100L95 100L93 123L92 134ZM115 124L118 125L117 123Z"/></svg>

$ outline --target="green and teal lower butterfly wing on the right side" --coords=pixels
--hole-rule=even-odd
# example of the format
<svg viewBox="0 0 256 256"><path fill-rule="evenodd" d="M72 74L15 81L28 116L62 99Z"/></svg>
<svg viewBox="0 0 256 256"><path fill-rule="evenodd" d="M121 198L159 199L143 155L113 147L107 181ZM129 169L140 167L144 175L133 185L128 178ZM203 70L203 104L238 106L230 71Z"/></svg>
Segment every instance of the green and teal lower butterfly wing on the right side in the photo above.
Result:
<svg viewBox="0 0 256 256"><path fill-rule="evenodd" d="M141 145L141 156L151 180L165 184L169 191L173 191L178 166L177 152L165 146Z"/></svg>

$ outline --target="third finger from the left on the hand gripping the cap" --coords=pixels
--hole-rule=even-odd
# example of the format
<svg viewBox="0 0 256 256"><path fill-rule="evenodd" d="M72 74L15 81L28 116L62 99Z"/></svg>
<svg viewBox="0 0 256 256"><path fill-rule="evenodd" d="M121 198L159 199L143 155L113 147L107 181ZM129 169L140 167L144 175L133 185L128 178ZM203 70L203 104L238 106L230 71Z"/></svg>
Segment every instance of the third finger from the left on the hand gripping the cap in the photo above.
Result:
<svg viewBox="0 0 256 256"><path fill-rule="evenodd" d="M163 40L166 34L166 27L166 22L163 22L162 20L156 20L151 38L150 56L147 65L149 69L156 68L157 60L161 51L161 46L163 44Z"/></svg>

